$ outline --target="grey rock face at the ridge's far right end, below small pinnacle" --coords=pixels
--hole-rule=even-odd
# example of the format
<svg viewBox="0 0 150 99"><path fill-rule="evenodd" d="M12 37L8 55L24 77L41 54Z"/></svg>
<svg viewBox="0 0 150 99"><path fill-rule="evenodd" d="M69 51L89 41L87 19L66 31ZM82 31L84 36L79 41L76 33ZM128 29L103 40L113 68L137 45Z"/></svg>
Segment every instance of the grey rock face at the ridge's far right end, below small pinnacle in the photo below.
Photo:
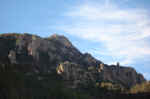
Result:
<svg viewBox="0 0 150 99"><path fill-rule="evenodd" d="M103 67L103 65L101 65L99 71L99 79L112 83L120 83L126 87L131 87L145 81L144 77L131 67L117 65L104 65Z"/></svg>

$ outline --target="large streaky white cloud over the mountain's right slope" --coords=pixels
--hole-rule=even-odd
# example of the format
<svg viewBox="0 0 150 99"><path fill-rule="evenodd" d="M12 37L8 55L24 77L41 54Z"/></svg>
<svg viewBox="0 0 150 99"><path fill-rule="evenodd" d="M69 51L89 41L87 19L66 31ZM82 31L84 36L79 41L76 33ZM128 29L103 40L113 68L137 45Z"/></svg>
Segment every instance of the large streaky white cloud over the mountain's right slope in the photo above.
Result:
<svg viewBox="0 0 150 99"><path fill-rule="evenodd" d="M108 6L109 5L109 6ZM150 18L146 9L121 9L116 5L77 6L65 14L72 24L63 30L78 37L100 42L106 52L120 58L122 64L130 64L136 59L150 55L150 46L145 38L150 38Z"/></svg>

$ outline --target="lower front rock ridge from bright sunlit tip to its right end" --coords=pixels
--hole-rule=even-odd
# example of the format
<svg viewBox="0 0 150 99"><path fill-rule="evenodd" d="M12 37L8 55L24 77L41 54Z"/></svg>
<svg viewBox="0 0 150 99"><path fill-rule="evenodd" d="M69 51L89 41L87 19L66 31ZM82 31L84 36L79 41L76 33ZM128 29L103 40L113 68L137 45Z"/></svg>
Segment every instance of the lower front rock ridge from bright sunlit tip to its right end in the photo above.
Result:
<svg viewBox="0 0 150 99"><path fill-rule="evenodd" d="M57 73L61 75L65 81L74 85L96 84L97 82L111 82L120 84L126 88L130 88L137 83L145 81L141 74L138 74L131 67L108 66L100 64L98 67L89 66L88 69L82 68L79 64L64 62L58 65Z"/></svg>

